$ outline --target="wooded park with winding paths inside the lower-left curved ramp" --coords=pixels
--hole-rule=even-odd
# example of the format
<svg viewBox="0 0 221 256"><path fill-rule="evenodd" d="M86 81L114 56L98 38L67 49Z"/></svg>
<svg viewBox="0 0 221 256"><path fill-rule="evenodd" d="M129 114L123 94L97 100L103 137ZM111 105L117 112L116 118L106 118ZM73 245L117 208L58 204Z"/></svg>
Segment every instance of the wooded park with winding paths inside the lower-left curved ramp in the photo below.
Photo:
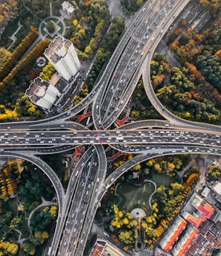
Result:
<svg viewBox="0 0 221 256"><path fill-rule="evenodd" d="M19 162L20 164L20 162ZM1 168L1 187L4 186L4 176L7 176L7 184L14 180L18 185L19 205L17 211L11 211L7 194L1 194L0 198L0 256L2 255L41 255L42 244L48 240L49 233L53 231L54 222L57 219L57 206L51 205L37 210L31 218L31 232L24 228L28 214L39 205L41 196L46 200L54 197L54 189L51 188L48 178L43 176L38 168L29 162L19 165L17 161L10 161ZM21 172L22 171L22 172ZM43 182L42 182L43 181ZM16 191L13 191L16 193ZM10 194L10 193L8 193ZM15 204L13 200L12 204ZM26 220L25 220L26 219ZM16 242L13 233L15 229L22 231L25 238L22 245Z"/></svg>

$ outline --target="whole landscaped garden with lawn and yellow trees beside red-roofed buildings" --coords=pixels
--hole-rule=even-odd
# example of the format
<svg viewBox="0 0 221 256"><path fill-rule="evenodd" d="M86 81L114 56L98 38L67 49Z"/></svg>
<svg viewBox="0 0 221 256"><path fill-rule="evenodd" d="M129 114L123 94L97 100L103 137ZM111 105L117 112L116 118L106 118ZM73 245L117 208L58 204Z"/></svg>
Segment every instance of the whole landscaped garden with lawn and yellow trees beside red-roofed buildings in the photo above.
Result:
<svg viewBox="0 0 221 256"><path fill-rule="evenodd" d="M132 157L119 156L113 163L114 170ZM139 234L142 243L152 249L199 178L193 162L195 159L188 155L158 156L123 173L103 196L97 211L99 222L108 217L103 219L103 228L112 240L124 243L125 251L133 251L138 246ZM190 168L182 176L187 165ZM146 216L139 220L132 217L130 212L134 208L141 208Z"/></svg>

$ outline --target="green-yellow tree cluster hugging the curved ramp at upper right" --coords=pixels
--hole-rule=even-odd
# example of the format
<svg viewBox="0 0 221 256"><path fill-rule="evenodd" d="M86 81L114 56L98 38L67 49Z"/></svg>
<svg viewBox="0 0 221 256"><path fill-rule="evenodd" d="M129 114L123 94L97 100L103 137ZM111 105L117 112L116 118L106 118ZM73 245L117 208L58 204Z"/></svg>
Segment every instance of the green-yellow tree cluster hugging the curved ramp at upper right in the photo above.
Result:
<svg viewBox="0 0 221 256"><path fill-rule="evenodd" d="M156 54L151 62L151 80L155 87L156 96L161 100L161 103L180 118L220 124L221 115L217 106L220 99L217 99L216 102L208 98L202 92L201 87L198 87L199 84L196 83L196 79L190 77L188 73L190 68L193 70L193 75L198 75L199 71L196 71L193 64L188 61L183 62L185 67L182 70L176 67L170 68L167 61L167 57ZM170 77L169 84L164 82L164 77Z"/></svg>

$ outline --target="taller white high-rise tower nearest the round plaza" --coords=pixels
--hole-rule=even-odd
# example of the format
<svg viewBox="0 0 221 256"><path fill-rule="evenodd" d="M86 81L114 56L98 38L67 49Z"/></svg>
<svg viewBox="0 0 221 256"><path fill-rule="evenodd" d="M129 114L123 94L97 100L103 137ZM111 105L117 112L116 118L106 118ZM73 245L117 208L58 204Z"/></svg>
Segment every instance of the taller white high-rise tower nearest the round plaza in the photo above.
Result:
<svg viewBox="0 0 221 256"><path fill-rule="evenodd" d="M74 50L74 45L62 36L56 36L44 54L58 73L67 81L80 70L81 65Z"/></svg>

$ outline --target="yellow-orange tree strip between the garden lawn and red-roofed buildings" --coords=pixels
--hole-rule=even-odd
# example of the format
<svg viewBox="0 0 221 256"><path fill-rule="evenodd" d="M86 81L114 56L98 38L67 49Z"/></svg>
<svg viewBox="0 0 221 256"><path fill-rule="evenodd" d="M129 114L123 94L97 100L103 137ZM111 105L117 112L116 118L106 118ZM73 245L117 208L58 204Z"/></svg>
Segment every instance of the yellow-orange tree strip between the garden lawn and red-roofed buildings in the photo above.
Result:
<svg viewBox="0 0 221 256"><path fill-rule="evenodd" d="M196 185L198 179L199 173L193 172L188 176L184 184L175 182L170 184L170 188L166 189L163 185L157 188L153 199L153 212L142 220L141 225L143 240L149 249L153 248L153 244L156 243L164 229L173 220L174 215L179 212L185 197Z"/></svg>

